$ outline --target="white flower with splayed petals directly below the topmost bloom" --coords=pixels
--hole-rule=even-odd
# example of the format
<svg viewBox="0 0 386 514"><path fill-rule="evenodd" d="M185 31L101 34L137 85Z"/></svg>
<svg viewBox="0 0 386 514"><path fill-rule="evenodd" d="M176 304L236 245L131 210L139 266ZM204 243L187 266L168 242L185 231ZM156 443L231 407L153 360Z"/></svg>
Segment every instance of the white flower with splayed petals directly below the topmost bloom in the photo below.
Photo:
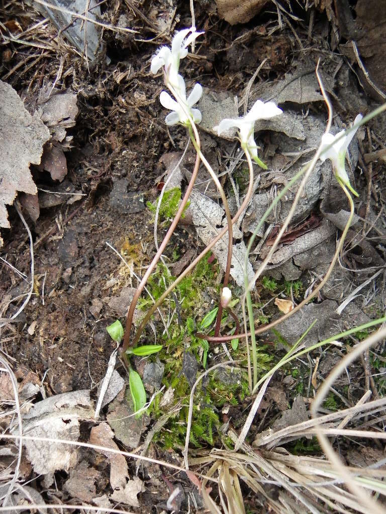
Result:
<svg viewBox="0 0 386 514"><path fill-rule="evenodd" d="M201 84L196 84L195 87L191 90L190 95L186 98L186 88L184 79L181 75L178 75L178 94L179 99L183 102L185 110L189 113L190 117L195 123L200 123L201 121L201 113L199 109L192 109L192 106L197 103L202 97L202 86ZM190 121L188 116L185 114L184 109L180 103L176 102L171 96L166 93L166 91L162 91L160 95L160 102L166 109L170 109L172 111L165 118L165 122L167 125L176 125L176 123L182 123L183 125L189 125Z"/></svg>

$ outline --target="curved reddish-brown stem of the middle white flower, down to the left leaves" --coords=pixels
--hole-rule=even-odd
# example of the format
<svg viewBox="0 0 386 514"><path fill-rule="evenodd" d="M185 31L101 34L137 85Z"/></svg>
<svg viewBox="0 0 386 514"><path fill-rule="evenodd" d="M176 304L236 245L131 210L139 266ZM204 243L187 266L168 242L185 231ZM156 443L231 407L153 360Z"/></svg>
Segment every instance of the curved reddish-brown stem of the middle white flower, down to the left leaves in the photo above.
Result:
<svg viewBox="0 0 386 514"><path fill-rule="evenodd" d="M249 185L248 185L248 191L247 191L247 194L245 195L245 198L243 200L243 203L240 205L240 209L236 212L235 216L232 218L232 223L235 224L238 220L238 218L240 217L241 213L244 211L244 209L247 207L248 203L249 203L249 200L251 198L251 195L252 195L252 191L253 191L253 169L251 168L250 169L250 175L249 175ZM189 266L181 273L181 275L166 289L166 291L161 295L161 297L155 302L154 305L152 305L152 307L148 310L145 318L143 319L141 325L139 325L138 327L138 330L137 330L137 333L135 334L135 338L134 338L134 343L133 344L136 344L138 338L137 338L137 335L138 334L141 334L141 332L143 331L145 325L147 324L147 322L150 320L151 316L153 315L154 311L157 309L157 307L159 307L161 305L161 303L165 300L165 298L169 295L169 293L174 289L174 287L176 287L180 282L181 280L183 280L187 274L192 270L194 269L194 267L201 261L201 259L203 258L203 256L211 249L215 246L215 244L217 243L217 241L219 241L221 239L221 237L226 234L226 232L228 231L228 227L224 227L221 232L219 232L218 235L216 235L216 237L213 239L213 241L211 241L205 248L204 250L200 253L200 255L198 255L196 257L196 259L194 261L192 261ZM205 338L204 338L205 339Z"/></svg>

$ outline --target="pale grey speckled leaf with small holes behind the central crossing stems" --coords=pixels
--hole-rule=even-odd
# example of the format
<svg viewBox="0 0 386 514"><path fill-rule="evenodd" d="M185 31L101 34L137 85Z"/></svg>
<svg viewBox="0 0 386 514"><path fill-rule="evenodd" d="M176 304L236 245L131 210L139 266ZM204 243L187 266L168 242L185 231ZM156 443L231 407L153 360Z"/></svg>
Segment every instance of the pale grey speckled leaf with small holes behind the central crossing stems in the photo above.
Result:
<svg viewBox="0 0 386 514"><path fill-rule="evenodd" d="M226 224L224 218L224 211L213 200L201 195L197 191L192 191L190 195L189 212L192 216L193 223L196 225L196 230L205 245L216 237L221 231L217 227L223 227ZM242 234L236 227L233 229L233 236L241 238ZM212 248L213 253L216 255L217 260L221 267L225 270L226 256L228 246L228 235L224 234L220 241L218 241ZM233 245L231 276L239 286L244 285L244 259L247 247L241 241ZM248 263L248 280L253 279L253 269L251 263Z"/></svg>

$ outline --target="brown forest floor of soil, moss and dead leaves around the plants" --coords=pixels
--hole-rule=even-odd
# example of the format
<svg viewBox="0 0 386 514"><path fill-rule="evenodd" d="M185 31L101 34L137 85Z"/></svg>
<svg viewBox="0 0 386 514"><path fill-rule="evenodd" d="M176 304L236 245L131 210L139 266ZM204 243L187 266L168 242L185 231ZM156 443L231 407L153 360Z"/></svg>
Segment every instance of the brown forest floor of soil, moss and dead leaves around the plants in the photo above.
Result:
<svg viewBox="0 0 386 514"><path fill-rule="evenodd" d="M125 326L138 277L156 253L154 206L166 177L177 167L178 178L174 177L160 213L160 244L194 167L196 154L191 145L179 163L188 140L186 129L166 126L167 112L159 100L162 75L150 71L154 52L170 44L174 31L190 27L192 18L189 2L106 0L96 8L103 27L95 26L95 33L89 34L100 45L94 55L87 47L82 52L66 38L68 27L58 34L57 25L47 13L42 14L42 4L0 3L0 80L12 86L30 115L35 118L38 111L49 129L42 142L41 163L28 161L38 194L20 188L25 192L17 196L19 207L8 206L10 228L2 229L0 424L4 434L17 434L21 423L24 435L30 432L38 437L24 441L21 456L17 439L0 442L0 497L8 502L4 506L29 510L31 505L43 505L40 512L46 511L44 504L83 505L84 512L91 511L87 510L90 506L154 513L218 512L221 505L227 505L230 513L354 511L350 499L340 503L340 498L334 499L325 490L317 498L308 486L286 488L278 474L285 473L292 483L300 480L295 464L287 473L280 461L277 474L272 471L287 455L300 455L304 462L309 459L310 467L317 466L317 460L325 462L315 434L304 433L302 427L296 433L281 433L277 439L270 437L308 421L312 399L330 371L374 328L349 334L339 344L326 344L280 368L267 389L260 390L263 396L240 450L245 462L236 453L236 463L234 437L240 434L256 399L249 389L245 341L205 347L194 328L205 328L213 335L213 323L204 320L218 302L221 252L207 254L146 327L141 343L163 346L157 355L133 359L147 399L152 400L147 412L140 418L133 416L128 375L117 359L116 389L109 399L105 397L98 418L94 417L98 388L116 348L106 327L116 319ZM269 120L256 127L259 156L268 170L254 165L253 197L234 236L234 247L242 249L269 202L319 145L328 113L315 75L318 61L334 109L332 133L348 127L358 113L365 116L385 102L385 42L379 27L386 23L386 6L362 0L336 2L340 5L335 8L328 1L293 0L282 5L272 1L251 17L248 9L236 10L233 4L194 2L196 27L204 33L181 68L188 91L195 82L203 86L198 104L203 117L202 151L220 177L233 214L248 186L247 163L239 156L237 141L218 137L213 127L221 118L245 114L257 99L273 100L284 111L283 122ZM258 2L251 2L249 9L254 4ZM86 41L87 33L81 30L81 34ZM55 98L59 102L49 104ZM24 159L23 144L15 143L16 131L7 132L5 126L0 120L2 161L8 162L9 141L13 141L16 157ZM384 316L385 135L382 113L353 139L345 166L359 196L343 252L317 298L259 336L259 378L308 330L304 347ZM258 232L250 255L254 270L267 255L296 191L289 190ZM195 194L207 199L208 212L210 206L222 205L203 167ZM192 216L195 202L197 196L192 196L164 252L164 265L157 266L148 292L138 302L135 326L172 282L171 277L179 276L204 248L198 228L201 222L195 223ZM279 318L280 300L296 305L321 281L348 210L330 161L318 161L288 230L253 290L256 328ZM208 214L201 226L218 228L216 223ZM240 262L233 266L231 279L235 299L243 294L237 270ZM10 320L29 291L24 309ZM241 302L233 308L242 325ZM229 334L233 321L223 321L222 333ZM334 418L340 423L347 409L357 406L363 396L363 403L381 401L386 392L385 362L381 340L339 374L319 413L342 412ZM190 467L207 475L217 465L210 475L215 481L206 482L202 492L202 476L181 470L189 399L199 375L221 363L222 367L203 377L194 395ZM383 433L386 407L382 403L377 409L360 412L357 418L353 414L347 426ZM338 421L328 427L336 428ZM39 437L121 452L60 445ZM383 473L379 477L384 476L381 439L342 435L331 437L330 442L345 464L356 469L377 467ZM247 477L242 469L252 458L252 443L258 448L253 458L269 464L265 468L256 461ZM272 449L280 458L269 457ZM136 461L122 451L146 455L150 461ZM304 473L310 481L310 472ZM326 471L317 476L317 482L323 482L336 475ZM227 491L227 499L221 497L218 482ZM230 490L235 498L242 496L243 506L232 503ZM298 490L301 498L296 497ZM380 505L384 505L382 498L380 493ZM355 502L361 505L360 500ZM305 510L298 509L299 504ZM363 509L358 507L360 512ZM59 512L60 507L51 510Z"/></svg>

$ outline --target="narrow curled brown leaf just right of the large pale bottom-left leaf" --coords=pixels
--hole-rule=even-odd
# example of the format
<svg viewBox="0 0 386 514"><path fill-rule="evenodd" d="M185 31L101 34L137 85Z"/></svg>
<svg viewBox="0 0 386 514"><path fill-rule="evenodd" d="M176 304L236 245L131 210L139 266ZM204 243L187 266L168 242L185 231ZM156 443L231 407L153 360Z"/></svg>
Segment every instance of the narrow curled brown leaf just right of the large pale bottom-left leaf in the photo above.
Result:
<svg viewBox="0 0 386 514"><path fill-rule="evenodd" d="M114 432L107 423L100 423L91 429L90 443L93 445L104 446L112 450L118 450L118 446L113 441ZM110 484L113 489L121 492L126 487L126 479L129 477L126 458L119 453L111 453L108 450L98 450L110 461Z"/></svg>

